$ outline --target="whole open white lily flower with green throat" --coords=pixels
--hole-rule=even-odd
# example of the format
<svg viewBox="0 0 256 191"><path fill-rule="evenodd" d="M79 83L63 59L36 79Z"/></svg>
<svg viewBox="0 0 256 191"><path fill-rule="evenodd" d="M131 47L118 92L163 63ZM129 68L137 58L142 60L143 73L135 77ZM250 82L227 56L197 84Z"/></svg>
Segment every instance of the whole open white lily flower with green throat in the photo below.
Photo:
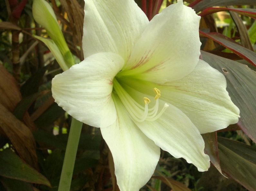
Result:
<svg viewBox="0 0 256 191"><path fill-rule="evenodd" d="M133 0L86 0L85 60L52 80L55 101L101 129L121 191L150 179L160 148L208 170L201 133L238 122L223 74L199 60L199 20L182 1L151 21ZM161 91L161 92L160 92Z"/></svg>

